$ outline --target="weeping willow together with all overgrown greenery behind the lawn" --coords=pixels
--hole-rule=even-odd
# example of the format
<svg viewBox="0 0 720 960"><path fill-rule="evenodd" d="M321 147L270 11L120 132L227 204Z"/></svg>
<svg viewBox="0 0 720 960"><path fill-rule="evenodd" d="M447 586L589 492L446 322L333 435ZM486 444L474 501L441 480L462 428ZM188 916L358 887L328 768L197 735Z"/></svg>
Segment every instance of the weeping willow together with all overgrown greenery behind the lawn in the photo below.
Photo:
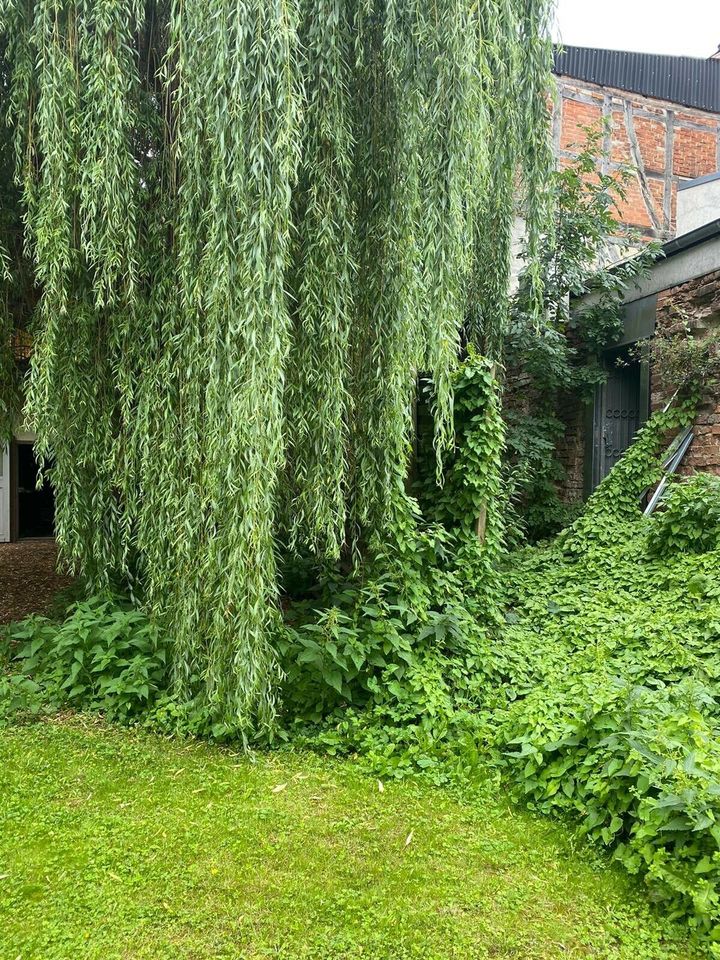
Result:
<svg viewBox="0 0 720 960"><path fill-rule="evenodd" d="M558 404L600 382L656 252L597 270L630 175L596 174L601 133L548 227L544 0L205 7L0 0L28 413L89 595L6 631L0 722L72 709L509 787L720 955L720 481L640 510L715 341L661 338L674 403L553 543L504 552L568 519ZM530 398L504 419L503 340Z"/></svg>

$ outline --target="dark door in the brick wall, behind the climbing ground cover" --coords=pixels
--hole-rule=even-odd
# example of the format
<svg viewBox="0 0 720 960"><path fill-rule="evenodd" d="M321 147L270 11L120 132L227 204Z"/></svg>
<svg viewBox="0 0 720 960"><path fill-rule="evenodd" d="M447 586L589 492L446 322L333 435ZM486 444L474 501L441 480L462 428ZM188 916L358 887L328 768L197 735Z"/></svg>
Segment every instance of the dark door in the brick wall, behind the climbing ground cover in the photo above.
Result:
<svg viewBox="0 0 720 960"><path fill-rule="evenodd" d="M605 354L607 381L598 388L593 417L593 488L610 473L647 419L643 366L632 346Z"/></svg>

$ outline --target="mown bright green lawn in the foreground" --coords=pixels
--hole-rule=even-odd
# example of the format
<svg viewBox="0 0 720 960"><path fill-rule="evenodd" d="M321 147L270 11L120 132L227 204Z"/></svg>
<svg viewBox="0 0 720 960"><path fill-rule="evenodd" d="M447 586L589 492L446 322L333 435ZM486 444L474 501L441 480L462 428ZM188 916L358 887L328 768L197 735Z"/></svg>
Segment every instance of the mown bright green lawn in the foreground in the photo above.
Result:
<svg viewBox="0 0 720 960"><path fill-rule="evenodd" d="M696 956L683 940L502 799L90 722L0 732L2 960Z"/></svg>

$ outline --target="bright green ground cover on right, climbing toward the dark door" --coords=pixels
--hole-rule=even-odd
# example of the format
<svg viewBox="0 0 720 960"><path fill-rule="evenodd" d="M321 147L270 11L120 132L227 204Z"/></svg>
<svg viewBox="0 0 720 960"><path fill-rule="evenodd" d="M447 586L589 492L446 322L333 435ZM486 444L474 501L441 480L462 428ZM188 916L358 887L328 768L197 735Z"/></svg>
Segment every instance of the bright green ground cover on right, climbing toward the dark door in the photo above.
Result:
<svg viewBox="0 0 720 960"><path fill-rule="evenodd" d="M515 558L489 716L519 795L576 818L717 941L717 484L676 482L649 520L638 506L658 425L689 415L651 421L573 527Z"/></svg>

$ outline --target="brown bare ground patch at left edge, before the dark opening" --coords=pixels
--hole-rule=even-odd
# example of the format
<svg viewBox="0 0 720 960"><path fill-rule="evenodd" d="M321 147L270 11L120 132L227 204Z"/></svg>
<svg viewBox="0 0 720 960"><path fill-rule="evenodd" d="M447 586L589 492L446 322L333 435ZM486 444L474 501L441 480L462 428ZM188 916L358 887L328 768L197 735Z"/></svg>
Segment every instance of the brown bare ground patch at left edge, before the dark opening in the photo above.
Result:
<svg viewBox="0 0 720 960"><path fill-rule="evenodd" d="M0 543L0 623L47 612L54 595L71 582L55 570L56 557L52 540Z"/></svg>

